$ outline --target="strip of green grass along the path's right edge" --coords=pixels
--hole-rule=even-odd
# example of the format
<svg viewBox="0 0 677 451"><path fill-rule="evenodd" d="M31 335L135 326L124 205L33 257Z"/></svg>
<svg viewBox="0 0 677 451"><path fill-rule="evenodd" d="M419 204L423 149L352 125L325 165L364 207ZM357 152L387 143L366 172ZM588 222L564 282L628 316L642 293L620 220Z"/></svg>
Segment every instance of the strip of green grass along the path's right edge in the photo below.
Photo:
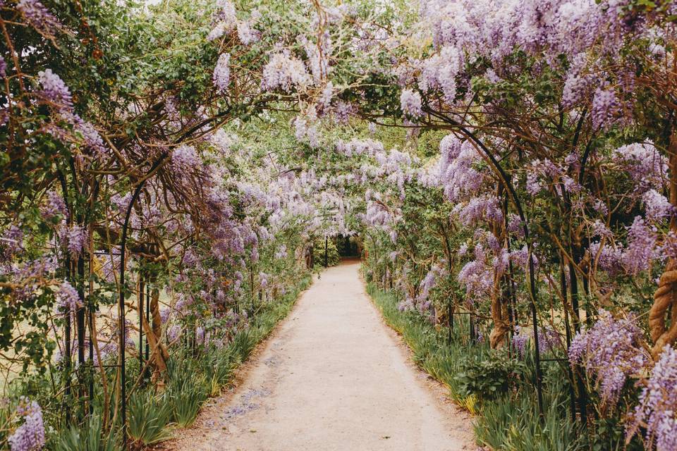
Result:
<svg viewBox="0 0 677 451"><path fill-rule="evenodd" d="M509 381L505 393L468 393L463 373L468 366L505 361L505 353L495 352L487 345L469 345L468 322L459 321L451 333L437 330L422 316L401 312L392 292L367 285L367 292L379 308L386 323L402 335L421 369L444 383L449 396L459 406L475 415L474 430L478 445L496 451L578 451L590 449L587 434L581 431L568 412L568 392L563 379L553 373L544 381L544 416L539 417L535 390L530 382L529 362L521 377ZM488 365L490 366L490 365ZM482 368L482 366L480 366ZM487 381L489 382L489 381ZM492 386L491 383L486 384ZM480 384L482 386L482 384Z"/></svg>

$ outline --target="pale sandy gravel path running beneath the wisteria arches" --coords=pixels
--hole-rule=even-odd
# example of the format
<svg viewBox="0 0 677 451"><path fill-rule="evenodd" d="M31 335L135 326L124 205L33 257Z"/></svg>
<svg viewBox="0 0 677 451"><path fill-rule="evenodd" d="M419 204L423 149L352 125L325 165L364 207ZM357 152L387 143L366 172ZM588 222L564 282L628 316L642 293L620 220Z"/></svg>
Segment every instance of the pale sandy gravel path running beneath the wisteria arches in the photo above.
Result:
<svg viewBox="0 0 677 451"><path fill-rule="evenodd" d="M166 450L475 450L471 420L419 371L365 293L330 268Z"/></svg>

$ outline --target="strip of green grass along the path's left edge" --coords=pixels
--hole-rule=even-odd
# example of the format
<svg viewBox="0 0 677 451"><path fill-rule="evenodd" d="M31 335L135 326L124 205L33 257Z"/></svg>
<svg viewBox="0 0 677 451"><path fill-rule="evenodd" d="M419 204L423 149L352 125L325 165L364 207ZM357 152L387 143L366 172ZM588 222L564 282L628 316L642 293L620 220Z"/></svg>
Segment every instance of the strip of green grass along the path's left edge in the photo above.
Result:
<svg viewBox="0 0 677 451"><path fill-rule="evenodd" d="M310 276L305 276L293 290L272 302L264 303L252 315L248 328L239 330L226 346L209 347L197 352L192 347L175 350L167 362L166 389L156 393L149 386L138 388L130 395L128 433L133 445L140 448L169 440L176 428L193 424L208 397L219 395L232 382L233 371L250 357L255 347L287 316L300 292L310 285L310 281ZM137 360L130 359L128 366L129 374L138 374ZM112 378L112 373L110 376ZM97 408L100 409L100 406ZM119 434L109 439L101 438L99 423L94 421L91 425L64 428L53 433L49 436L47 449L120 450ZM75 443L77 447L73 445Z"/></svg>

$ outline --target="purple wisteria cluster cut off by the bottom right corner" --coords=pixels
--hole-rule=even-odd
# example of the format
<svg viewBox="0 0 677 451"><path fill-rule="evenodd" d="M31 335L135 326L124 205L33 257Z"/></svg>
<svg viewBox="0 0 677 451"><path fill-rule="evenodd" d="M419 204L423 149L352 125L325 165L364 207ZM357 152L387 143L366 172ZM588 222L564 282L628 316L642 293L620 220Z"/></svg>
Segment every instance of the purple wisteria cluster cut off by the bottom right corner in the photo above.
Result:
<svg viewBox="0 0 677 451"><path fill-rule="evenodd" d="M626 426L628 438L646 428L647 451L677 450L677 351L666 346Z"/></svg>

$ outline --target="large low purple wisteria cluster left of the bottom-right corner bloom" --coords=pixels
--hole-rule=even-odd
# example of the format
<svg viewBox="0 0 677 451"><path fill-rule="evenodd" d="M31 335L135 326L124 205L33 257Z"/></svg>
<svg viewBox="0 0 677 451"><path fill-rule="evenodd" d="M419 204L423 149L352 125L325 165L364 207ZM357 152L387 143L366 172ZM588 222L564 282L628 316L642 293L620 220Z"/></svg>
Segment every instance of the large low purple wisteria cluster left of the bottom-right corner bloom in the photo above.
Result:
<svg viewBox="0 0 677 451"><path fill-rule="evenodd" d="M595 381L602 407L613 409L628 377L641 373L650 362L641 346L642 330L635 317L615 319L599 310L599 319L576 334L569 348L569 361L580 364Z"/></svg>

